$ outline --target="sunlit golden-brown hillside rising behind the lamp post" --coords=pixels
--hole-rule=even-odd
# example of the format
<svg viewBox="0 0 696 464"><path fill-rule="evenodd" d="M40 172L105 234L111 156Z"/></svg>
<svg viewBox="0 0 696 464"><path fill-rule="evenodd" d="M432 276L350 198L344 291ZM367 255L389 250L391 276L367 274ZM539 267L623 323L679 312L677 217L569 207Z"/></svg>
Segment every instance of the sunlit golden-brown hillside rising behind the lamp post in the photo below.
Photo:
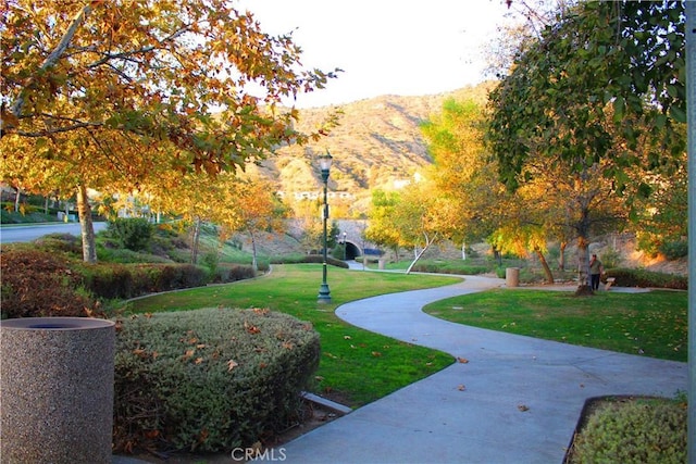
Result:
<svg viewBox="0 0 696 464"><path fill-rule="evenodd" d="M422 97L382 96L343 106L300 110L297 128L310 131L339 115L339 125L315 145L284 147L277 155L251 167L278 183L286 195L321 188L316 158L326 149L334 158L330 189L349 192L356 201L374 188L393 189L432 162L419 124L437 113L448 98L485 101L486 86Z"/></svg>

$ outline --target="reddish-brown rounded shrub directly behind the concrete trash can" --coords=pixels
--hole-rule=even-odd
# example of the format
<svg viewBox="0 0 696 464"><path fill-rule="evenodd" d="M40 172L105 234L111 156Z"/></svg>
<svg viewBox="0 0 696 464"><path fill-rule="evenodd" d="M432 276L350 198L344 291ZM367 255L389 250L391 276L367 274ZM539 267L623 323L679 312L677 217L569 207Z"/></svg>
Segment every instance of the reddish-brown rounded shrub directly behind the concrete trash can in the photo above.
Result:
<svg viewBox="0 0 696 464"><path fill-rule="evenodd" d="M98 303L82 290L66 258L38 250L3 250L0 260L2 318L86 316Z"/></svg>

